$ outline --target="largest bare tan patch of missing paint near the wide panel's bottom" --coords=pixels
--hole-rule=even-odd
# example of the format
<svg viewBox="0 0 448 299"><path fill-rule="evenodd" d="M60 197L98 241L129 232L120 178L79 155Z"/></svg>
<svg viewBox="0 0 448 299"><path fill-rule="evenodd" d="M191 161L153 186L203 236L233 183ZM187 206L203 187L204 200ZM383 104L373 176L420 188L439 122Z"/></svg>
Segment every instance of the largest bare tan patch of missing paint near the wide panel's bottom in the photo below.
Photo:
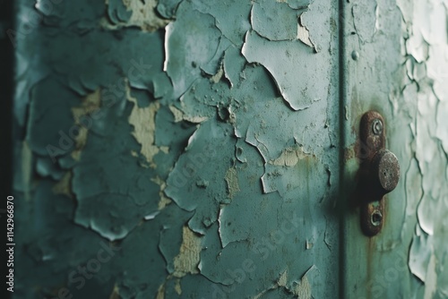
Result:
<svg viewBox="0 0 448 299"><path fill-rule="evenodd" d="M173 276L176 278L182 278L186 274L199 273L202 237L196 235L188 226L183 227L182 237L180 252L174 259Z"/></svg>

